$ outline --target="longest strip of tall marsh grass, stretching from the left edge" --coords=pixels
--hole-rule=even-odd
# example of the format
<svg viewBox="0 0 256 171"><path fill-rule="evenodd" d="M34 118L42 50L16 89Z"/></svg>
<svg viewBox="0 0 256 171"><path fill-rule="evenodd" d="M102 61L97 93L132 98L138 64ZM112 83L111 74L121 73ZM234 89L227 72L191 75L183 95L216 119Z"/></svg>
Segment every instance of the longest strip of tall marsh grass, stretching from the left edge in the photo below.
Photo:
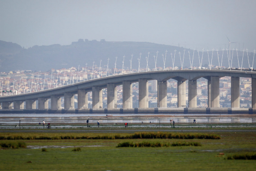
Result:
<svg viewBox="0 0 256 171"><path fill-rule="evenodd" d="M136 132L134 134L25 134L25 135L4 135L0 134L0 140L118 140L118 139L212 139L218 140L221 137L214 134L204 133L179 133L179 132Z"/></svg>

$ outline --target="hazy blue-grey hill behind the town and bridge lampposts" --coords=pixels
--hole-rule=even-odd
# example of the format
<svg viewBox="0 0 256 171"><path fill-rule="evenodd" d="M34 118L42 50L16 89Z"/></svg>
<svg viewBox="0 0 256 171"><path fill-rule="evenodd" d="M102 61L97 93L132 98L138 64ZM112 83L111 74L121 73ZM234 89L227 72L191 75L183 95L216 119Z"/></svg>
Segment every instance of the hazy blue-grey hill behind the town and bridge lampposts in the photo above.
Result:
<svg viewBox="0 0 256 171"><path fill-rule="evenodd" d="M107 59L109 58L109 68L114 67L115 57L117 59L117 68L121 68L123 63L123 56L125 55L125 68L130 68L131 55L133 54L132 67L138 68L139 53L141 55L141 68L145 68L147 65L146 56L149 54L149 67L154 68L155 62L153 55L156 55L157 50L157 66L163 67L162 54L165 56L167 50L166 67L172 66L172 59L170 53L175 54L175 66L181 67L180 58L183 60L184 48L160 45L156 43L148 42L108 42L101 41L88 41L80 39L77 42L72 42L71 45L50 45L50 46L33 46L28 49L22 48L20 45L11 42L0 41L0 71L16 71L16 70L32 70L32 71L48 71L51 68L70 68L94 65L99 66L100 60L102 60L102 67L106 67ZM188 56L188 50L190 50L191 60L193 56L193 50L185 49L184 68L190 67L190 60ZM180 54L179 54L180 52ZM231 52L232 53L232 52ZM212 52L209 51L211 58ZM202 58L202 52L199 53ZM252 62L253 53L248 53L249 59ZM173 55L174 57L174 55ZM219 51L219 57L221 60L222 51ZM239 52L239 60L241 65L242 52ZM221 61L220 61L221 62ZM204 52L203 65L208 66L208 54ZM218 65L217 53L214 52L213 65ZM199 66L198 52L194 51L193 66ZM227 51L224 51L223 65L228 67ZM234 51L233 67L238 67L236 51ZM244 54L243 67L248 67L247 54Z"/></svg>

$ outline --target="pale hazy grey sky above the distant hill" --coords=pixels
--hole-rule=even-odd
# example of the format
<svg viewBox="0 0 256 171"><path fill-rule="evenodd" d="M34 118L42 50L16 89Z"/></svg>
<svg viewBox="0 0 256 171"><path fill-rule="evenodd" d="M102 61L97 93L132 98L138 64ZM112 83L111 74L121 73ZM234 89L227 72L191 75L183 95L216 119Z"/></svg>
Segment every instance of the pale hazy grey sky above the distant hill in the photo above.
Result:
<svg viewBox="0 0 256 171"><path fill-rule="evenodd" d="M78 39L256 48L256 1L0 0L0 40L28 48ZM235 48L235 43L231 46ZM236 43L239 47L239 43Z"/></svg>

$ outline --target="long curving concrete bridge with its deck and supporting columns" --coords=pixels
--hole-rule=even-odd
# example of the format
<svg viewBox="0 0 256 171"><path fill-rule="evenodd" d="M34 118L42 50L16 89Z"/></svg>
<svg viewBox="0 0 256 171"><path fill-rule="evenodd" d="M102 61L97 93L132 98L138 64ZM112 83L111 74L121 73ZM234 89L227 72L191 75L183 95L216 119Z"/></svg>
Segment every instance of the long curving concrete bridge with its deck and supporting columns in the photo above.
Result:
<svg viewBox="0 0 256 171"><path fill-rule="evenodd" d="M48 109L51 99L51 110L61 109L61 97L64 97L64 110L74 110L74 94L78 95L78 109L88 109L88 92L93 93L93 109L102 108L102 89L107 88L107 110L117 106L117 88L123 85L123 109L132 109L132 83L139 83L139 109L148 109L148 81L157 80L157 103L160 109L167 107L167 80L178 81L178 109L186 107L186 83L188 80L188 109L197 107L197 79L208 80L208 107L220 107L220 78L231 77L231 108L240 107L240 77L252 78L252 108L256 108L256 72L229 69L183 69L173 71L148 71L121 74L80 83L52 88L50 90L0 97L2 110L38 110ZM24 105L26 102L26 106ZM196 110L196 109L195 109ZM197 109L198 110L198 109ZM0 111L1 113L1 111Z"/></svg>

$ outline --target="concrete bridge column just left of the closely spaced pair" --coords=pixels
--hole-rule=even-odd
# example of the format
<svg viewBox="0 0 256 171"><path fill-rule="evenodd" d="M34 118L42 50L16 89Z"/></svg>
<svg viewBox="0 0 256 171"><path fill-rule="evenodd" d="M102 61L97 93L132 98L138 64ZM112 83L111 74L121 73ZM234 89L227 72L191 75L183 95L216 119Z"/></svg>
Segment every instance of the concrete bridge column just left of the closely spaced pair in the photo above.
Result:
<svg viewBox="0 0 256 171"><path fill-rule="evenodd" d="M167 107L167 81L157 81L157 106Z"/></svg>

